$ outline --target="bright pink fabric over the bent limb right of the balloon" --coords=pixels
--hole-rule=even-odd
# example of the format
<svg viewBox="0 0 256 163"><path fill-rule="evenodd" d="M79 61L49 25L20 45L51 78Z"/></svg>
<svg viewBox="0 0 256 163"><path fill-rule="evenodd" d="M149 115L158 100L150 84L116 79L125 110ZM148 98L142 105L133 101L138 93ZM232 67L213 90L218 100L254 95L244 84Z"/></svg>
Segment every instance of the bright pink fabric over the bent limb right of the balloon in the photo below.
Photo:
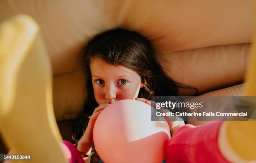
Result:
<svg viewBox="0 0 256 163"><path fill-rule="evenodd" d="M221 121L202 126L187 124L172 136L166 163L228 163L218 148Z"/></svg>

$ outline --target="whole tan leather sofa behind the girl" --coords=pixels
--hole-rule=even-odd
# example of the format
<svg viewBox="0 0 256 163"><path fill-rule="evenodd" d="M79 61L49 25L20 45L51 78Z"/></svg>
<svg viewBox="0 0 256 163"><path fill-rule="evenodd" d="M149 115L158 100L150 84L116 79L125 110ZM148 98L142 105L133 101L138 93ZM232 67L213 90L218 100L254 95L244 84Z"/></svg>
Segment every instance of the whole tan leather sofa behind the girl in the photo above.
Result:
<svg viewBox="0 0 256 163"><path fill-rule="evenodd" d="M241 95L238 84L254 32L253 0L0 1L0 22L20 13L41 28L53 72L54 113L66 140L70 131L61 120L82 111L86 96L77 54L93 35L113 27L148 37L168 75L199 94Z"/></svg>

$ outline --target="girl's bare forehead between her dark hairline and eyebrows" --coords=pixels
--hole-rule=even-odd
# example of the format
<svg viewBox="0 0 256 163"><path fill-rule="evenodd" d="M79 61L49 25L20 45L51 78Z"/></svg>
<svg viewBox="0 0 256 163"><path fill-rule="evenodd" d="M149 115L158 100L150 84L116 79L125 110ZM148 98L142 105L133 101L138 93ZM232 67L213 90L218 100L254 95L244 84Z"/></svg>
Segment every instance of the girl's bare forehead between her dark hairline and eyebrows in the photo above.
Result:
<svg viewBox="0 0 256 163"><path fill-rule="evenodd" d="M123 75L123 76L138 76L138 73L128 69L127 67L121 65L113 65L108 64L107 62L103 61L100 58L92 59L90 63L90 69L92 75L95 76L102 76L102 75Z"/></svg>

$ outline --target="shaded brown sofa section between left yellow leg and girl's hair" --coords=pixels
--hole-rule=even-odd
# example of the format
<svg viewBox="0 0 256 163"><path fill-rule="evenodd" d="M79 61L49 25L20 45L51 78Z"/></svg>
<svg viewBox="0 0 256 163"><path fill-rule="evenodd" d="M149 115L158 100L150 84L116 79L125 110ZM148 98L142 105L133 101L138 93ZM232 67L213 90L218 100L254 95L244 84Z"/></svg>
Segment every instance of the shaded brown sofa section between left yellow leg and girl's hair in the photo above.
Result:
<svg viewBox="0 0 256 163"><path fill-rule="evenodd" d="M81 71L54 76L53 102L57 120L72 119L82 111L85 97L84 74Z"/></svg>

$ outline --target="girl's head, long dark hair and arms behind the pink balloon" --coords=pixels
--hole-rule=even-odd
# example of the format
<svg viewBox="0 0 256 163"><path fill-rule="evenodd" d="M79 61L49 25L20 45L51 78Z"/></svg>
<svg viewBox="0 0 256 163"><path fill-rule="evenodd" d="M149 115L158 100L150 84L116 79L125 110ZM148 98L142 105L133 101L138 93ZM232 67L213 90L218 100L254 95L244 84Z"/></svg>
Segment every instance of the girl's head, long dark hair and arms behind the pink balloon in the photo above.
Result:
<svg viewBox="0 0 256 163"><path fill-rule="evenodd" d="M96 35L84 48L82 67L87 74L84 114L73 125L77 149L84 156L92 153L92 131L100 112L109 104L136 99L150 104L151 96L176 96L177 84L163 71L151 43L137 32L115 28ZM138 98L140 97L140 98ZM172 133L184 121L169 121Z"/></svg>

